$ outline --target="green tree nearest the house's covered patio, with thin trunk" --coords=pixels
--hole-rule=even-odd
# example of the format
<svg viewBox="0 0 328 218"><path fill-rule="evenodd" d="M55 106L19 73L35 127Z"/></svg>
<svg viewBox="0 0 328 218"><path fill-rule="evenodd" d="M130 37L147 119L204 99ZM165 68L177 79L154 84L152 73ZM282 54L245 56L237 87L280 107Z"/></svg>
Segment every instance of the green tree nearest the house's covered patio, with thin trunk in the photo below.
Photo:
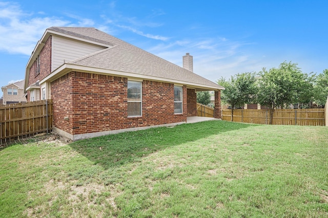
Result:
<svg viewBox="0 0 328 218"><path fill-rule="evenodd" d="M225 88L221 91L221 101L232 107L231 121L235 108L253 103L255 100L257 86L255 74L252 72L234 75L230 80L221 78L217 83Z"/></svg>

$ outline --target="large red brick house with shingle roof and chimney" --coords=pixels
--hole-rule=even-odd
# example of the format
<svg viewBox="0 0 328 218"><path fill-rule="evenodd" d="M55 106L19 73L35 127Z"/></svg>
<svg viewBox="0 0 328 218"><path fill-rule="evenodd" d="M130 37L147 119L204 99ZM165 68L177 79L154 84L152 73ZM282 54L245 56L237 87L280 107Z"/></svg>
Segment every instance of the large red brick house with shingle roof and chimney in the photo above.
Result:
<svg viewBox="0 0 328 218"><path fill-rule="evenodd" d="M53 131L71 140L196 116L196 92L215 91L221 117L223 87L95 28L51 27L27 63L28 101L53 100Z"/></svg>

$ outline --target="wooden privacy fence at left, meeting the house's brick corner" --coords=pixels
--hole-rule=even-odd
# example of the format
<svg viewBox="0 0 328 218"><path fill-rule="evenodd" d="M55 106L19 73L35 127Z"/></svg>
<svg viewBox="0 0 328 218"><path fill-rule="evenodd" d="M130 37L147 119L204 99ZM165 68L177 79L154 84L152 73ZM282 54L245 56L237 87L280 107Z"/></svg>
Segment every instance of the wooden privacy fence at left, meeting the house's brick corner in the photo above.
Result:
<svg viewBox="0 0 328 218"><path fill-rule="evenodd" d="M0 106L0 143L52 130L52 100Z"/></svg>

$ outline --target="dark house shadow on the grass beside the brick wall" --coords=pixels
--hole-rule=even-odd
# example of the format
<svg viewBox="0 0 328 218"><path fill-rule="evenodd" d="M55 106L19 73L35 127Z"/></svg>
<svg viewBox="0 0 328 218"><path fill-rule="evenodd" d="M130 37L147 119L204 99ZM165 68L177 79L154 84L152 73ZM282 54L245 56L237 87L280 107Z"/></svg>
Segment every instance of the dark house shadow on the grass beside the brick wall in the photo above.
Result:
<svg viewBox="0 0 328 218"><path fill-rule="evenodd" d="M108 169L140 160L141 157L172 146L249 126L213 120L84 139L72 142L70 147Z"/></svg>

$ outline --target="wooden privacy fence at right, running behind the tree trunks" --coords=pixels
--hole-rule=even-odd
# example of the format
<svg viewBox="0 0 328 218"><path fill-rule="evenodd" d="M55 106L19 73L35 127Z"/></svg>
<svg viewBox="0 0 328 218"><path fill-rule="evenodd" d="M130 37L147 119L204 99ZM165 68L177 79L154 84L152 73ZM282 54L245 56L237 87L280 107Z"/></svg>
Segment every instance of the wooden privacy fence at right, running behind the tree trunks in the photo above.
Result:
<svg viewBox="0 0 328 218"><path fill-rule="evenodd" d="M324 126L324 109L276 109L274 125ZM222 110L222 120L231 120L231 109ZM234 122L270 124L270 110L234 109Z"/></svg>

